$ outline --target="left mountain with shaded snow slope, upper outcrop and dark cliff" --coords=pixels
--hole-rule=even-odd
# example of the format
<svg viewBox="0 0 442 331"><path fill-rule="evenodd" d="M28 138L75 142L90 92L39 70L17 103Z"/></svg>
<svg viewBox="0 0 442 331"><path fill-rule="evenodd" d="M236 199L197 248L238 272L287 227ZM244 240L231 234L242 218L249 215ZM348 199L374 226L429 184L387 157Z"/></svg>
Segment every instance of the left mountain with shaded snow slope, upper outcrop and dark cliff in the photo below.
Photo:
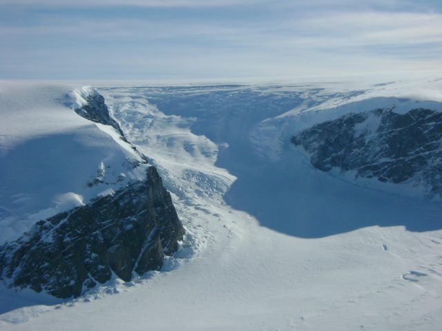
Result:
<svg viewBox="0 0 442 331"><path fill-rule="evenodd" d="M39 88L37 94L41 92ZM10 198L4 199L4 205L1 201L2 210L8 212L3 227L7 230L12 223L24 233L0 245L0 279L8 287L61 298L78 297L115 276L131 281L135 275L161 268L164 254L173 254L184 235L157 171L124 138L103 97L91 88L73 94L73 109L59 107L52 112L62 118L75 111L99 124L89 122L87 134L73 126L39 132L41 137L25 135L19 141L6 135L1 158L6 184L1 193ZM53 120L43 107L37 114L32 108L28 112L38 121ZM15 112L5 113L7 122L20 126ZM41 130L38 123L30 126ZM52 128L57 130L56 123ZM26 172L17 173L20 167ZM64 180L73 174L79 182ZM16 187L18 177L24 178ZM20 209L22 205L29 209ZM39 221L26 228L36 217Z"/></svg>

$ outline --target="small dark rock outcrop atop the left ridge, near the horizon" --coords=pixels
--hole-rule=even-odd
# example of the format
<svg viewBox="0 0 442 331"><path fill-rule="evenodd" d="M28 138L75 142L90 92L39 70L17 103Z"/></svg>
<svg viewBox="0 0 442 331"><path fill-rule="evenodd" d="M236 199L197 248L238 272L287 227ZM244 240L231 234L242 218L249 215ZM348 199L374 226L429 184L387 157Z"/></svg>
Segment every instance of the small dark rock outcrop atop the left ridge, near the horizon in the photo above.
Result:
<svg viewBox="0 0 442 331"><path fill-rule="evenodd" d="M104 97L96 90L91 89L85 98L87 103L80 108L76 108L75 112L90 121L113 126L124 137L118 123L109 115L108 107L104 103Z"/></svg>

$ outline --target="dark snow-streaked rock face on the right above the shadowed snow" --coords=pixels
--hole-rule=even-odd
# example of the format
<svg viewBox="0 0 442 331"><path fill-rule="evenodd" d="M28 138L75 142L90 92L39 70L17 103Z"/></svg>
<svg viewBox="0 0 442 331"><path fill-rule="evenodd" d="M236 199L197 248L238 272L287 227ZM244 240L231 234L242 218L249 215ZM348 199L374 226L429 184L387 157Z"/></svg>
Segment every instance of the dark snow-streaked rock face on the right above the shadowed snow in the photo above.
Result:
<svg viewBox="0 0 442 331"><path fill-rule="evenodd" d="M442 197L442 113L378 109L347 114L295 134L291 142L323 171L338 167L379 181L413 181Z"/></svg>

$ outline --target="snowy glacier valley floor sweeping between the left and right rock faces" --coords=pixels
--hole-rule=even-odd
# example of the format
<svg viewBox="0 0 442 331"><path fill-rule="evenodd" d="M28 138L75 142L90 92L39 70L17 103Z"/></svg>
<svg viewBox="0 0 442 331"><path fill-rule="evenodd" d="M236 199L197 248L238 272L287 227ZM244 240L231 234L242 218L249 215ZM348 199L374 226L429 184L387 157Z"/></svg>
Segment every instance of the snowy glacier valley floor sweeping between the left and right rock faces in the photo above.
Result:
<svg viewBox="0 0 442 331"><path fill-rule="evenodd" d="M420 80L357 90L99 89L128 140L157 166L186 239L162 272L114 279L79 299L3 289L0 329L440 330L441 204L315 170L289 137L350 111L441 110L441 88L441 80ZM82 136L90 124L75 121L79 129L66 130ZM30 131L21 122L15 132Z"/></svg>

